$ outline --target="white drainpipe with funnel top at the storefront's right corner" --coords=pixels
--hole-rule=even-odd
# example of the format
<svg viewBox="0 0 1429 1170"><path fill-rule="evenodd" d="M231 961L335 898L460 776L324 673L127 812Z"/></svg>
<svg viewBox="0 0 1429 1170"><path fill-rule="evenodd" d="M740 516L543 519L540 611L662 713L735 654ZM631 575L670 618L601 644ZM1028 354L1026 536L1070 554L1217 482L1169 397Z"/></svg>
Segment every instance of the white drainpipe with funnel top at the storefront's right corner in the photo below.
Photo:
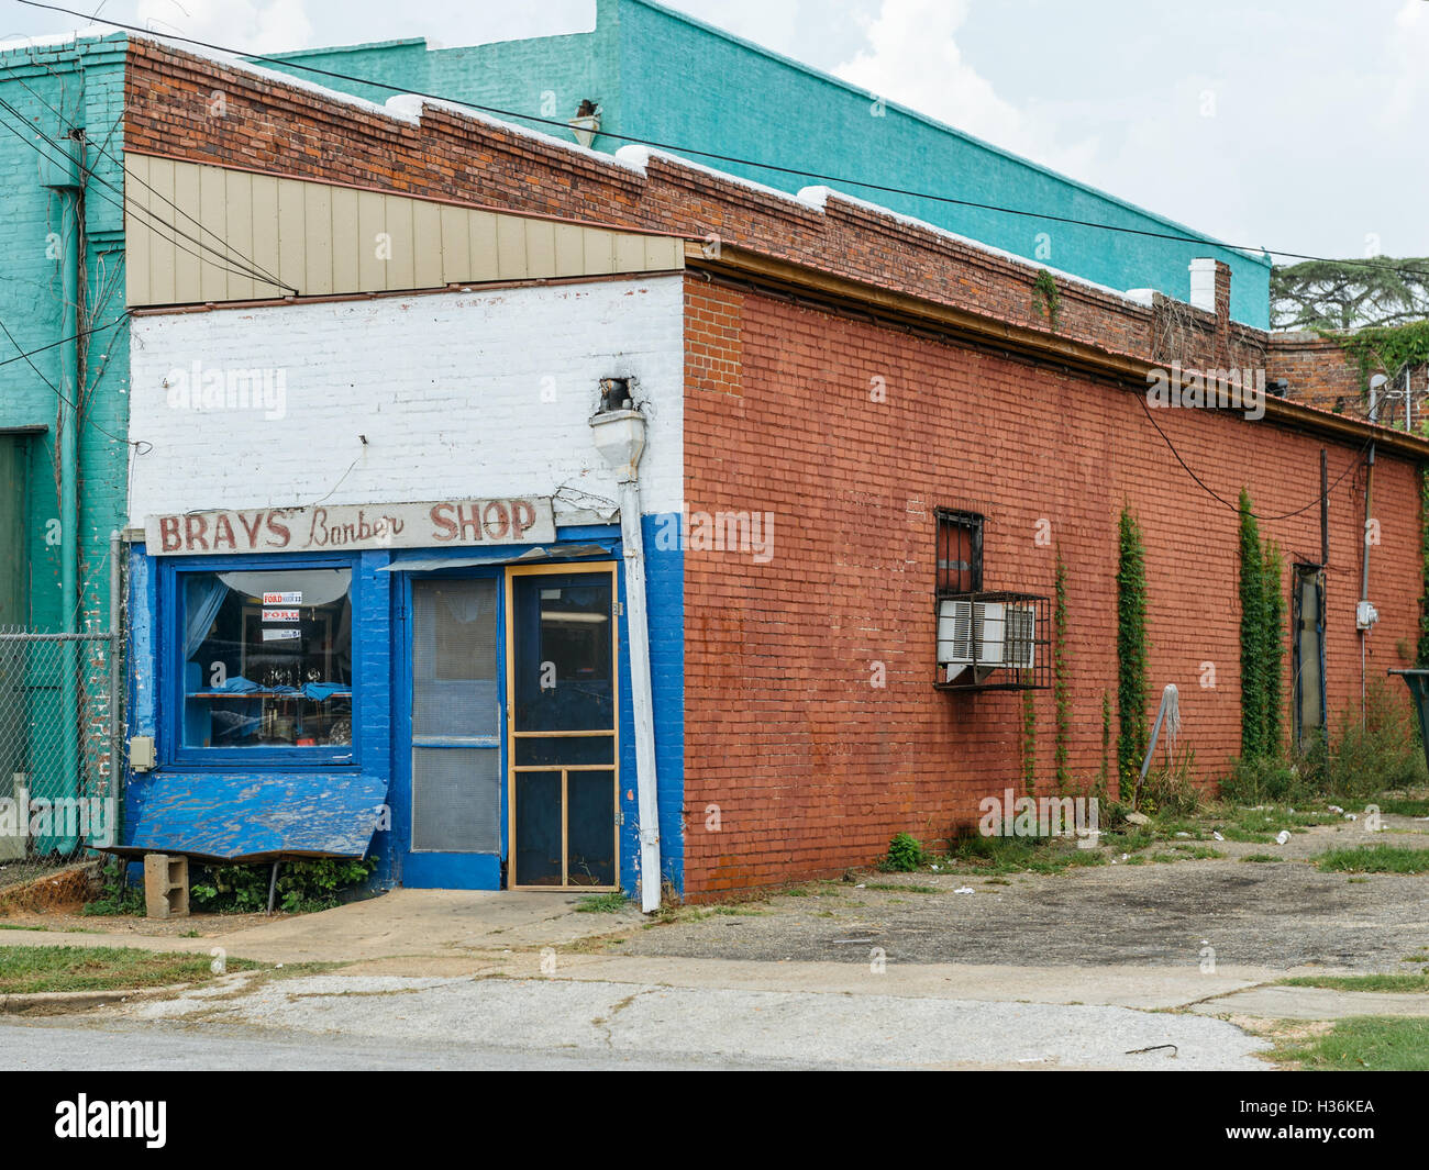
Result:
<svg viewBox="0 0 1429 1170"><path fill-rule="evenodd" d="M660 809L654 771L654 697L650 690L650 627L644 604L644 537L640 531L640 456L644 416L604 410L590 420L596 449L620 483L620 544L626 569L626 630L630 639L630 697L634 773L640 816L640 909L660 909Z"/></svg>

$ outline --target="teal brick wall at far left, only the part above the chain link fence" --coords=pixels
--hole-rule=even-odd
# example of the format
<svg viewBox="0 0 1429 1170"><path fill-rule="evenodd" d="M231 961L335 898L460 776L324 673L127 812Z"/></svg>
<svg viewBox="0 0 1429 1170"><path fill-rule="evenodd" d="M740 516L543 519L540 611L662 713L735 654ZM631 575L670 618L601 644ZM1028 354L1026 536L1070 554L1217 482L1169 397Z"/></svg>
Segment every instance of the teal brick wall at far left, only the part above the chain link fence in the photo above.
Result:
<svg viewBox="0 0 1429 1170"><path fill-rule="evenodd" d="M54 153L34 131L50 139L81 127L94 179L84 197L86 241L81 256L89 327L103 327L124 310L123 216L116 206L123 190L124 39L71 41L64 46L0 53L0 99L24 116L26 137ZM61 337L60 279L63 250L56 244L61 197L40 183L40 154L13 133L19 119L0 106L0 320L24 351L53 346ZM103 147L103 151L99 147ZM110 203L109 200L113 200ZM54 539L80 541L83 604L80 626L91 617L109 621L109 536L123 527L126 511L129 427L129 329L120 323L81 341L84 384L79 424L79 524L76 534L57 533L60 496L56 480L56 431L60 403L44 384L60 384L60 347L34 354L36 369L17 357L16 344L0 333L0 429L41 424L47 433L19 440L27 447L27 483L19 529L29 567L29 614L23 624L59 630L60 549Z"/></svg>

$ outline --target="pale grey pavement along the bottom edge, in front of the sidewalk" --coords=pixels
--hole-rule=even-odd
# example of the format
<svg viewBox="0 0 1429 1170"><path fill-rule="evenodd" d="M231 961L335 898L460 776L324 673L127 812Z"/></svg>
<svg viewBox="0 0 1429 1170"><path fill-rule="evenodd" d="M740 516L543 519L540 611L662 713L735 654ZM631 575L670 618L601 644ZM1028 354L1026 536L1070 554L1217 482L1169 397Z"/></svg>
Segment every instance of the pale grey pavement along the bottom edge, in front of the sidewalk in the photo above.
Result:
<svg viewBox="0 0 1429 1170"><path fill-rule="evenodd" d="M304 976L0 1024L0 1069L1266 1069L1218 1019L562 979Z"/></svg>

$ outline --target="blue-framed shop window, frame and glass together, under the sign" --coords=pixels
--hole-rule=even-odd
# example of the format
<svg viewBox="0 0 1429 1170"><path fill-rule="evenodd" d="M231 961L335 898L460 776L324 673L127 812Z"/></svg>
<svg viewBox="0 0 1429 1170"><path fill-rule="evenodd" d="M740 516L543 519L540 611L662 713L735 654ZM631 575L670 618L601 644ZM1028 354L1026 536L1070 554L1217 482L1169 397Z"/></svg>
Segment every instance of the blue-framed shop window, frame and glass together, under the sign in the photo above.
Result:
<svg viewBox="0 0 1429 1170"><path fill-rule="evenodd" d="M166 566L163 743L201 767L356 767L357 557Z"/></svg>

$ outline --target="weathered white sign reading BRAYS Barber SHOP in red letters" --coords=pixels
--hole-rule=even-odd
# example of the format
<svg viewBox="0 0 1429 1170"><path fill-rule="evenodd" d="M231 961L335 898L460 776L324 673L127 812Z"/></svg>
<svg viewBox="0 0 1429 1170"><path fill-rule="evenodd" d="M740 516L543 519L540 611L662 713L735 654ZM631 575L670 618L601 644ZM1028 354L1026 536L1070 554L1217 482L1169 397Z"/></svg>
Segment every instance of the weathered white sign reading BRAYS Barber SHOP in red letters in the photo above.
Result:
<svg viewBox="0 0 1429 1170"><path fill-rule="evenodd" d="M483 544L543 544L554 539L556 519L549 496L191 511L181 516L150 516L144 523L149 553L167 557L349 549L462 549Z"/></svg>

